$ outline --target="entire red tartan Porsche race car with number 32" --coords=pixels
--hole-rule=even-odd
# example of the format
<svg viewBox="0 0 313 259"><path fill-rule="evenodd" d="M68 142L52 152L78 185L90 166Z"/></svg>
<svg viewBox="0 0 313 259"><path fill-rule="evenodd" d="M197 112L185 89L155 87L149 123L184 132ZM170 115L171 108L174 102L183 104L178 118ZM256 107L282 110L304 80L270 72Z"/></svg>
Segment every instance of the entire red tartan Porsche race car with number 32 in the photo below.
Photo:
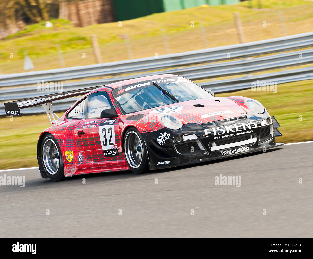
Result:
<svg viewBox="0 0 313 259"><path fill-rule="evenodd" d="M83 95L83 96L82 96ZM82 96L58 118L52 101ZM280 125L258 101L216 97L178 75L153 75L5 103L6 114L43 105L51 122L39 136L43 178L170 168L284 143Z"/></svg>

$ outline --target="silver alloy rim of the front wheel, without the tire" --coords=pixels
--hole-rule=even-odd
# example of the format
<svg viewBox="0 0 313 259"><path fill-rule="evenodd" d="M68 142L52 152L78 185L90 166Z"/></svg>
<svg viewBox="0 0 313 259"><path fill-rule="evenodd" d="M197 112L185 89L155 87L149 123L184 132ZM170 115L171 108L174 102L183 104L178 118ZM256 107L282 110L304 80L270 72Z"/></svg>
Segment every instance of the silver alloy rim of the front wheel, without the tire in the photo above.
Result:
<svg viewBox="0 0 313 259"><path fill-rule="evenodd" d="M125 137L125 156L132 168L138 168L142 162L142 142L137 132L130 131Z"/></svg>

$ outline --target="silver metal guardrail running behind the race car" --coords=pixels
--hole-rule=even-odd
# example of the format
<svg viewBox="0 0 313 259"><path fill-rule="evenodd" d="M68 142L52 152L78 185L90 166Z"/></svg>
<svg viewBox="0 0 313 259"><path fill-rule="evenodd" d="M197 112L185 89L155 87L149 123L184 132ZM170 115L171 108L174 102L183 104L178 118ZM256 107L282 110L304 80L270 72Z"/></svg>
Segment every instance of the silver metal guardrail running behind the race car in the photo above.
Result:
<svg viewBox="0 0 313 259"><path fill-rule="evenodd" d="M274 70L279 68L294 67L313 63L313 49L267 55L251 58L253 56L278 53L286 50L303 49L313 46L313 32L296 34L269 40L256 41L244 44L235 44L211 49L201 49L170 55L162 55L157 59L143 58L110 62L102 64L106 75L110 77L110 83L131 79L139 75L131 73L141 72L140 76L156 74L178 74L190 80L203 80L233 75L247 75L250 73ZM241 60L234 60L244 58ZM198 65L209 62L225 61L216 64ZM229 61L232 60L232 61ZM37 86L21 85L36 84L37 82L77 80L105 76L101 64L70 67L65 69L53 69L33 71L9 75L0 75L0 102L18 100L47 94L37 91ZM182 67L186 66L188 67ZM167 69L162 71L153 71ZM152 72L150 72L152 71ZM129 75L127 75L129 74ZM214 80L200 83L202 87L211 89L216 93L248 89L251 82L271 81L279 83L313 79L313 67L266 73L262 75L237 77L226 80ZM97 80L83 80L74 83L64 83L63 91L70 91L91 86L108 84L107 78ZM15 86L15 87L14 87ZM2 88L2 89L1 89ZM49 92L54 93L54 92ZM54 102L54 110L66 110L76 99L68 99ZM23 113L43 112L42 107L26 109ZM0 106L0 115L4 114L3 105Z"/></svg>

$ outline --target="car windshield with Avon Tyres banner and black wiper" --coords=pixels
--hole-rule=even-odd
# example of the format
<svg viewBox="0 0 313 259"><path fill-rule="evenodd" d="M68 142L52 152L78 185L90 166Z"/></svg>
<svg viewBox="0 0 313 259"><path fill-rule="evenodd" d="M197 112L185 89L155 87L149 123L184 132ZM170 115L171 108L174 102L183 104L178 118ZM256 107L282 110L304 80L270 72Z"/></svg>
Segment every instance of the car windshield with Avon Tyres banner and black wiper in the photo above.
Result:
<svg viewBox="0 0 313 259"><path fill-rule="evenodd" d="M200 86L183 77L161 78L126 85L113 90L123 114L171 103L213 97Z"/></svg>

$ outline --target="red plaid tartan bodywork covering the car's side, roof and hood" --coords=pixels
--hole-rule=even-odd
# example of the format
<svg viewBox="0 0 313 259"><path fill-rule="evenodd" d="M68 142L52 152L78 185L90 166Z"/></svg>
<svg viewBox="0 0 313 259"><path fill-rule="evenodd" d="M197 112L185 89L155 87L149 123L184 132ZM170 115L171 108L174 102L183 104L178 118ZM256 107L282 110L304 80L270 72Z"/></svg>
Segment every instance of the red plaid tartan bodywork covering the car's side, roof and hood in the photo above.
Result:
<svg viewBox="0 0 313 259"><path fill-rule="evenodd" d="M129 167L126 163L125 155L122 151L122 136L126 128L129 126L136 127L140 133L158 131L164 126L158 121L158 117L162 114L150 113L149 109L144 111L138 111L132 114L122 115L120 109L118 108L115 100L112 96L112 89L118 87L123 87L126 85L134 84L137 82L142 82L146 80L160 79L165 77L175 77L177 75L153 75L141 78L135 78L131 80L125 80L117 83L112 83L109 85L101 86L85 96L95 93L97 91L105 91L110 96L110 100L118 114L118 118L114 122L114 132L115 132L115 148L117 148L118 156L104 156L101 147L99 124L103 119L68 119L66 118L69 110L75 106L81 99L77 100L60 118L59 122L46 129L41 134L45 132L51 133L58 141L63 155L64 162L64 173L65 176L77 175L77 174L89 174L89 173L100 173L108 171L121 171L128 170ZM171 114L179 118L182 123L208 123L216 120L222 120L228 117L238 117L246 114L249 108L245 106L245 97L232 96L232 97L212 97L204 98L192 101L185 101L180 103L174 103L166 105L164 107L170 106L180 106L182 109L178 113ZM204 104L204 107L195 107L196 104ZM160 108L160 107L158 107ZM214 113L217 111L231 111L229 114L224 114L222 117L215 115L206 118L201 117L201 115ZM144 114L144 116L139 120L128 120L127 117L130 115ZM95 121L92 124L97 124L96 127L83 128L85 123ZM78 136L77 131L83 130L84 135ZM41 137L39 137L40 139ZM73 159L69 162L65 158L66 151L73 151ZM78 160L79 155L83 156L81 161Z"/></svg>

